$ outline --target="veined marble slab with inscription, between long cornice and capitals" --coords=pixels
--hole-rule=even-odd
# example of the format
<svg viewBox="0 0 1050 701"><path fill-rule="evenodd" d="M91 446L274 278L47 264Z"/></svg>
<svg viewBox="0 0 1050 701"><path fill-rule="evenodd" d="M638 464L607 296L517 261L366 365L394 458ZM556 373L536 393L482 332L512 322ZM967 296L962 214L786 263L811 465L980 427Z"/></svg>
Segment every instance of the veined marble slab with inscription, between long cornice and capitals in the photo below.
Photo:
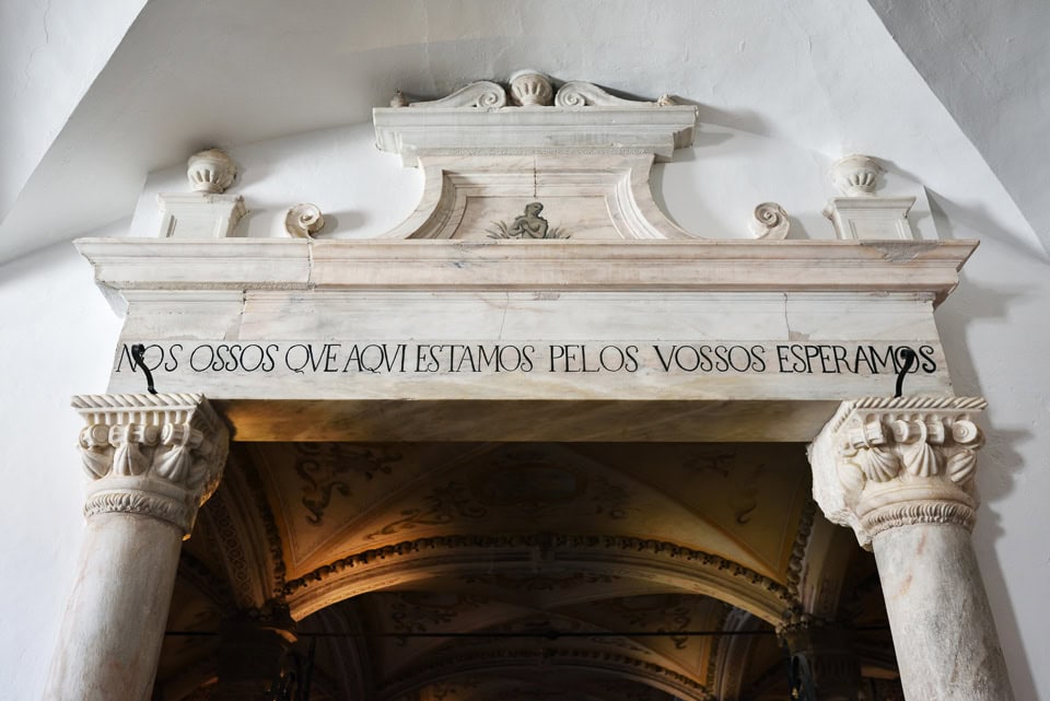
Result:
<svg viewBox="0 0 1050 701"><path fill-rule="evenodd" d="M254 292L196 309L132 299L109 392L142 389L132 343L164 392L213 399L837 399L890 393L905 348L918 355L910 389L950 392L931 303L913 295Z"/></svg>

